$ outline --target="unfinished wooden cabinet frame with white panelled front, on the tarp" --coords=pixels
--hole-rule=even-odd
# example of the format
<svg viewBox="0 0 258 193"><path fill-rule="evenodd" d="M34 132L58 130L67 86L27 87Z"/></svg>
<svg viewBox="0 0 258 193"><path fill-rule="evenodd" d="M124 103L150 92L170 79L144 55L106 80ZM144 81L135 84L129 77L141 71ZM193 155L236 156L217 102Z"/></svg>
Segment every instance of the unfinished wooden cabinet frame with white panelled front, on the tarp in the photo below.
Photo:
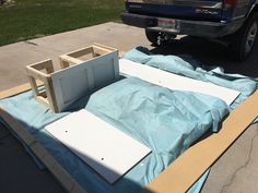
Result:
<svg viewBox="0 0 258 193"><path fill-rule="evenodd" d="M26 67L36 99L54 112L119 79L118 50L98 44L60 56L60 65L55 71L52 61L45 60Z"/></svg>

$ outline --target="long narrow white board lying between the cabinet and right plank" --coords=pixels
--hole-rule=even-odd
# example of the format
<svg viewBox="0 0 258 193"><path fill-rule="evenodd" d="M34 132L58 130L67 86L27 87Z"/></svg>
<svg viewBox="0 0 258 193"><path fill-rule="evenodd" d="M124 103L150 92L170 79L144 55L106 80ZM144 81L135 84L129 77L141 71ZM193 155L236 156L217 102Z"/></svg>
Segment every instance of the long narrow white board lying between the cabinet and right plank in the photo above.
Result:
<svg viewBox="0 0 258 193"><path fill-rule="evenodd" d="M173 74L127 59L119 60L119 70L122 74L136 76L143 81L150 82L159 86L167 87L173 91L197 92L206 95L211 95L221 98L227 105L231 105L241 94L239 92L234 89Z"/></svg>

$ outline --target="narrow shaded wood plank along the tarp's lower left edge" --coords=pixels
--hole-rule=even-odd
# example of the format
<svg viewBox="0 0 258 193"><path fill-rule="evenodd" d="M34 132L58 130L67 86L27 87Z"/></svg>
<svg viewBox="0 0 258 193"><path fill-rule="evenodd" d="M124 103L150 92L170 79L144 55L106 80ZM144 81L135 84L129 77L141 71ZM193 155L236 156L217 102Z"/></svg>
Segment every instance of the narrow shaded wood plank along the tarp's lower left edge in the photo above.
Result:
<svg viewBox="0 0 258 193"><path fill-rule="evenodd" d="M12 118L0 106L0 117L9 128L32 149L55 178L69 193L86 193L86 191L61 167L61 165L32 136L22 124Z"/></svg>

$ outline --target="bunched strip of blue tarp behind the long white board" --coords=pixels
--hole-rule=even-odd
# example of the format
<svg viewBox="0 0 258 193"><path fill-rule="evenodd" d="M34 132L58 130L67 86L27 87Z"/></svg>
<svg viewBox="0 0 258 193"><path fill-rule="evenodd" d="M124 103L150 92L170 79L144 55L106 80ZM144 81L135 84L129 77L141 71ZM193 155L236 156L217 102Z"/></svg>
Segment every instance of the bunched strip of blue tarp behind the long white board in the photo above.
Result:
<svg viewBox="0 0 258 193"><path fill-rule="evenodd" d="M255 79L239 74L226 74L221 68L204 70L198 61L195 61L189 56L185 56L183 59L176 56L151 55L146 48L139 47L126 52L122 58L178 75L238 91L241 95L231 105L231 109L234 109L258 88L257 80Z"/></svg>

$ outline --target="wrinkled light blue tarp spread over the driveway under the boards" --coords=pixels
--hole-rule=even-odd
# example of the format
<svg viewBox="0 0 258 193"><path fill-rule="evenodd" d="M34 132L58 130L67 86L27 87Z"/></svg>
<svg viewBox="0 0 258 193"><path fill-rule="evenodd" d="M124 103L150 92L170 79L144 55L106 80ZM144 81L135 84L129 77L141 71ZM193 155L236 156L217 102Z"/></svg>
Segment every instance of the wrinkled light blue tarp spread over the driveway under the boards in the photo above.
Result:
<svg viewBox="0 0 258 193"><path fill-rule="evenodd" d="M138 52L136 49L127 53L126 58L129 58L128 56L138 60L142 60L141 57L155 58L155 56ZM172 65L173 68L169 67L169 69L177 69L179 74L184 74L185 71L195 74L195 71L202 77L204 73L200 69L198 71L197 68L192 67L191 69L188 62L177 57L171 56L169 61L171 64L167 63L168 60L160 56L160 64ZM185 75L188 75L187 73ZM211 77L219 79L213 74L214 72L208 73L211 73ZM246 84L245 88L244 83L242 84L243 91L245 91L237 99L242 101L256 89L257 85L255 81L247 77L237 80L243 80ZM220 81L226 81L230 84L235 81L235 77L230 81L220 77ZM85 96L62 113L52 113L35 101L32 92L2 99L0 105L20 120L24 128L89 193L138 192L206 132L218 131L220 121L228 112L227 106L218 98L197 93L173 92L133 77L118 81L91 96ZM44 130L46 124L80 108L86 108L148 145L153 150L152 154L117 183L110 185L67 147L52 140ZM208 172L200 178L189 191L190 193L200 191L207 174Z"/></svg>

